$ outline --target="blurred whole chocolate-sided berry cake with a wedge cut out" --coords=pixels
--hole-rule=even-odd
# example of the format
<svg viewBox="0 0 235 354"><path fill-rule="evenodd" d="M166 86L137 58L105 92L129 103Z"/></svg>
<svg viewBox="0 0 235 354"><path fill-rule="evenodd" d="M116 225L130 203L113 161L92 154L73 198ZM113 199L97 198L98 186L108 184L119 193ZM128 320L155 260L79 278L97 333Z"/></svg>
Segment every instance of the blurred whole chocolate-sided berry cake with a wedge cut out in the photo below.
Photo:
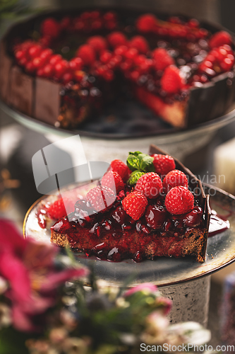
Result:
<svg viewBox="0 0 235 354"><path fill-rule="evenodd" d="M174 127L234 101L234 40L192 18L141 11L43 13L1 40L1 99L56 127L99 119L132 97Z"/></svg>

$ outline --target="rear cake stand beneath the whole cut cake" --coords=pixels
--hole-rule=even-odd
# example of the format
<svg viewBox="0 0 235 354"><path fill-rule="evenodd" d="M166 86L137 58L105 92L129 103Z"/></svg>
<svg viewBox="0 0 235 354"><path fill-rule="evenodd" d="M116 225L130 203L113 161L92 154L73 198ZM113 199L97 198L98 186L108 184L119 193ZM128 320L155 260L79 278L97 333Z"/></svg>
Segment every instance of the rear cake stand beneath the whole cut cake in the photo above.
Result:
<svg viewBox="0 0 235 354"><path fill-rule="evenodd" d="M97 122L87 122L79 130L63 130L35 118L24 115L0 101L0 108L21 125L35 130L49 140L80 135L83 149L88 161L110 162L119 156L123 161L128 151L147 153L150 144L183 159L184 156L197 151L210 142L215 132L233 122L235 119L234 106L229 113L186 130L176 128L162 122L150 110L138 103L130 103L121 108L114 108L115 119L110 115L102 115Z"/></svg>

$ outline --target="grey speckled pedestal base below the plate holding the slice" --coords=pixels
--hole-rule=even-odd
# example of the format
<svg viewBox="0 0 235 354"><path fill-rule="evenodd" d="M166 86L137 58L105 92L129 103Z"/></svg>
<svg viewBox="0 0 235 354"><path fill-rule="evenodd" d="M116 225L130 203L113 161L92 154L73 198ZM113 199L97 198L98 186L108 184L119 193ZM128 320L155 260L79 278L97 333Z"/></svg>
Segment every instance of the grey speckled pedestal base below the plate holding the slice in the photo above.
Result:
<svg viewBox="0 0 235 354"><path fill-rule="evenodd" d="M209 300L210 300L210 276L181 282L173 286L160 287L164 297L172 300L173 306L169 314L172 324L183 321L199 322L207 326Z"/></svg>

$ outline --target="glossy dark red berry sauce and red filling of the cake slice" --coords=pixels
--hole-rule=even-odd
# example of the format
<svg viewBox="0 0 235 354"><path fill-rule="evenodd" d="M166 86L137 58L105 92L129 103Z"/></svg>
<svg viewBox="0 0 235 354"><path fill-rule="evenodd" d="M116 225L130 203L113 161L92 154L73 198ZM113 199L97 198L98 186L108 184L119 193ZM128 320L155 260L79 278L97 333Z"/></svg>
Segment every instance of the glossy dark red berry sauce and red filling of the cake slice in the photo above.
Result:
<svg viewBox="0 0 235 354"><path fill-rule="evenodd" d="M86 256L108 261L133 258L135 262L145 258L144 250L152 241L159 255L167 249L169 256L181 257L185 235L191 236L195 229L205 232L203 209L196 197L191 212L171 215L164 207L164 196L160 196L151 200L143 217L135 221L123 210L124 196L120 192L112 207L99 213L86 200L78 200L75 211L56 222L52 232L66 234L71 248L78 249L79 244Z"/></svg>

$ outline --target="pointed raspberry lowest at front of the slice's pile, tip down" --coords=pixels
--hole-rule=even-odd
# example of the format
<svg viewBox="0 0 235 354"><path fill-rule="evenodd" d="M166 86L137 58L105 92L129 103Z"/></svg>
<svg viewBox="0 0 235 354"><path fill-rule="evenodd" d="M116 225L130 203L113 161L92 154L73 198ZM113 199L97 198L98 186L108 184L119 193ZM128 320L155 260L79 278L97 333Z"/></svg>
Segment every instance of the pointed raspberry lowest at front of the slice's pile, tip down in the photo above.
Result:
<svg viewBox="0 0 235 354"><path fill-rule="evenodd" d="M126 195L122 201L123 209L132 219L138 220L142 217L147 207L147 198L142 193L134 190Z"/></svg>

